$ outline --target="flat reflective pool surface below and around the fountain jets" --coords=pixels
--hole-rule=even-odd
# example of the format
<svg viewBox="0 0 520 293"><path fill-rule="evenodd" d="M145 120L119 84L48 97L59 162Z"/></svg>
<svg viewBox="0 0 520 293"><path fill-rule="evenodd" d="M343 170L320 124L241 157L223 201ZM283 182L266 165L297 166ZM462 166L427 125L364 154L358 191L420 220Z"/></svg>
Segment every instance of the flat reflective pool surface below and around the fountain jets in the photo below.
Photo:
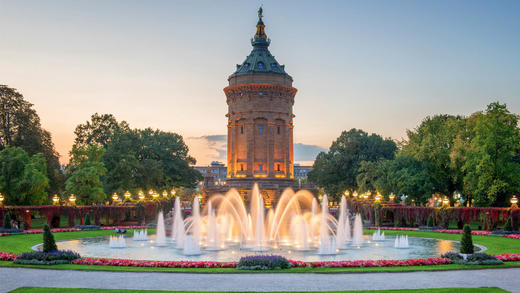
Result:
<svg viewBox="0 0 520 293"><path fill-rule="evenodd" d="M394 248L395 237L387 236L387 241L369 243L369 236L365 235L365 243L362 249L349 246L339 250L337 255L318 255L316 249L299 251L288 246L280 245L276 249L263 254L277 254L294 260L326 261L326 260L368 260L368 259L409 259L438 257L448 251L458 251L459 243L447 240L426 239L410 237L409 249ZM126 258L141 260L192 260L192 261L237 261L245 255L262 254L241 249L240 245L226 243L226 249L218 251L203 250L198 256L185 256L182 250L175 248L174 242L167 242L166 246L159 247L155 244L155 235L150 236L149 241L133 241L132 237L126 238L127 247L110 249L108 238L88 238L58 242L59 249L74 250L84 257ZM478 250L478 248L476 248Z"/></svg>

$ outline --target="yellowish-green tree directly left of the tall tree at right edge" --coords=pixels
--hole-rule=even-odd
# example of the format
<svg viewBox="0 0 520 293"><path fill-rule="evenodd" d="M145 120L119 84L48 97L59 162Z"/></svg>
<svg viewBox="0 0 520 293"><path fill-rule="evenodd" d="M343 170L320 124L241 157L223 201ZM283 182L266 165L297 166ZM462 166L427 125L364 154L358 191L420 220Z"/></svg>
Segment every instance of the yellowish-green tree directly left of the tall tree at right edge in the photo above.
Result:
<svg viewBox="0 0 520 293"><path fill-rule="evenodd" d="M433 192L451 196L461 189L460 169L452 164L450 155L464 126L464 117L443 114L426 117L416 129L407 132L402 153L427 164Z"/></svg>

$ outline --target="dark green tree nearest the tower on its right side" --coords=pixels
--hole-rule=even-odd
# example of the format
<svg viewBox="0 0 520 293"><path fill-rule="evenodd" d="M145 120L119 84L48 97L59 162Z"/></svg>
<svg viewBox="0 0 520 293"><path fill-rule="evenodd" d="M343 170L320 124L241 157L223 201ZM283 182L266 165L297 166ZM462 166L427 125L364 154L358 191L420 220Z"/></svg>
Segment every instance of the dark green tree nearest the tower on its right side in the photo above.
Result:
<svg viewBox="0 0 520 293"><path fill-rule="evenodd" d="M397 145L377 134L351 129L343 131L328 152L316 157L309 180L336 199L345 190L356 190L356 178L362 161L375 162L394 157Z"/></svg>

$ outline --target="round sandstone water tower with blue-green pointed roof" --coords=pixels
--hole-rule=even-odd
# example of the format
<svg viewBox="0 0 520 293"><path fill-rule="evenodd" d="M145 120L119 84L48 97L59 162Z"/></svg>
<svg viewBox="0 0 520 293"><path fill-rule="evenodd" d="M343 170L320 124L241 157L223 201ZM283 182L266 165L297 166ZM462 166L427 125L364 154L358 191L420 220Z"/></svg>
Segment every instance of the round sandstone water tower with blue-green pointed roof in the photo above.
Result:
<svg viewBox="0 0 520 293"><path fill-rule="evenodd" d="M266 200L293 186L293 79L269 52L262 10L253 50L228 78L227 186L247 193L258 183Z"/></svg>

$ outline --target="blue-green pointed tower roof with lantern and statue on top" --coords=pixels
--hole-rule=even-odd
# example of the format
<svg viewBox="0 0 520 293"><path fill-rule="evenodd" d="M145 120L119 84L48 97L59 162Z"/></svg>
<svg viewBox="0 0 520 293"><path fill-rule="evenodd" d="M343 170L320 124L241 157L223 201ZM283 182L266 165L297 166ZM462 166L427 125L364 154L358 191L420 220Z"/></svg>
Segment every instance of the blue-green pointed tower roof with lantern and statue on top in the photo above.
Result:
<svg viewBox="0 0 520 293"><path fill-rule="evenodd" d="M262 21L262 8L258 10L258 23L256 24L255 36L251 39L253 50L242 64L237 64L237 70L230 76L234 77L242 74L279 74L288 76L285 72L285 65L279 64L274 56L269 52L271 40L265 33L265 25ZM292 79L292 78L291 78Z"/></svg>

